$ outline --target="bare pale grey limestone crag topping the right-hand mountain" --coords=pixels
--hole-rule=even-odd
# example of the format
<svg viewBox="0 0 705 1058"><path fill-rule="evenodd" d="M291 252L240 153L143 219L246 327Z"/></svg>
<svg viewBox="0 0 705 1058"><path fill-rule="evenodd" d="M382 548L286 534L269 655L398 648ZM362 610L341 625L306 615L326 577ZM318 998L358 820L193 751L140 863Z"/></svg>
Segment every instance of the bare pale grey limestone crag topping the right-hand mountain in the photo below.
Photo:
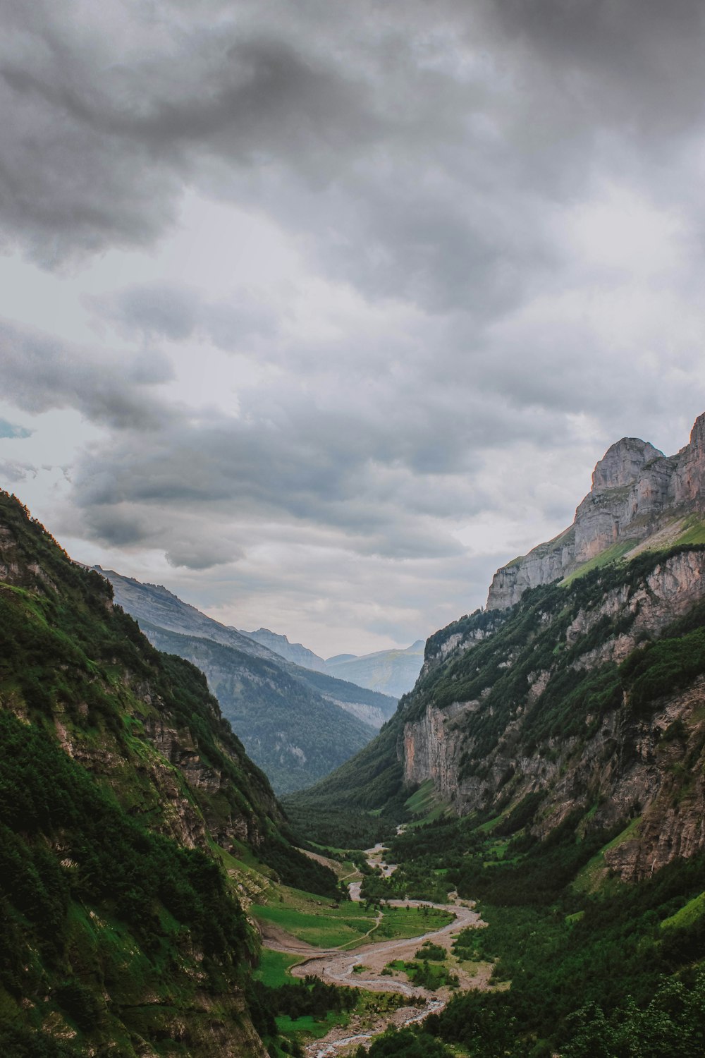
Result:
<svg viewBox="0 0 705 1058"><path fill-rule="evenodd" d="M496 572L488 609L513 606L523 591L578 569L614 545L638 546L668 526L678 537L679 518L705 510L705 415L690 443L667 457L647 441L624 437L608 449L578 505L573 525Z"/></svg>

